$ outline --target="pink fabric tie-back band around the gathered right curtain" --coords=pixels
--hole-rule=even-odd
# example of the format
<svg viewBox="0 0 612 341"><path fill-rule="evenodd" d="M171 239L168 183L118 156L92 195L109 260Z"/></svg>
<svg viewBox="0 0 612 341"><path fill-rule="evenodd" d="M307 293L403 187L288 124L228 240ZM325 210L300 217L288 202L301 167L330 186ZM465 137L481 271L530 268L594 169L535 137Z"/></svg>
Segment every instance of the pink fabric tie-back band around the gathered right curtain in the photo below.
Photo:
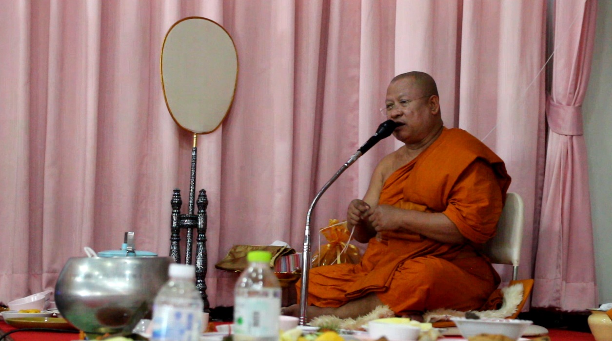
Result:
<svg viewBox="0 0 612 341"><path fill-rule="evenodd" d="M562 105L550 97L547 100L546 117L550 130L560 135L583 135L582 105Z"/></svg>

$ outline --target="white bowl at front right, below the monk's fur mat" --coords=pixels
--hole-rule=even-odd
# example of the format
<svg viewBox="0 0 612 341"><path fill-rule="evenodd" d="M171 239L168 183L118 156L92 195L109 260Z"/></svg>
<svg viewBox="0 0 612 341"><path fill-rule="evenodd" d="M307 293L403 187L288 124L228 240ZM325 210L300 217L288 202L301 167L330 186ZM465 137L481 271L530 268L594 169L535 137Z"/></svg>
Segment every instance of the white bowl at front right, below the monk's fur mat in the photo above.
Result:
<svg viewBox="0 0 612 341"><path fill-rule="evenodd" d="M518 340L529 324L533 323L528 320L510 320L507 318L472 320L465 317L452 317L450 320L457 324L461 336L465 339L478 334L499 334L512 340Z"/></svg>

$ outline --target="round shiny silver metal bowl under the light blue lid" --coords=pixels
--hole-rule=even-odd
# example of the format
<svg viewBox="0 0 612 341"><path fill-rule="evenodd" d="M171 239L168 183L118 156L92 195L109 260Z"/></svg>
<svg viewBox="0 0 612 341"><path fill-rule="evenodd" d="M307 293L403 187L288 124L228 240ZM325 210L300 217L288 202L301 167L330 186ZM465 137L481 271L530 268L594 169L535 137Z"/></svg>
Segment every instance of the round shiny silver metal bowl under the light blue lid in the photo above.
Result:
<svg viewBox="0 0 612 341"><path fill-rule="evenodd" d="M70 258L59 274L55 302L87 334L128 335L168 280L170 257Z"/></svg>

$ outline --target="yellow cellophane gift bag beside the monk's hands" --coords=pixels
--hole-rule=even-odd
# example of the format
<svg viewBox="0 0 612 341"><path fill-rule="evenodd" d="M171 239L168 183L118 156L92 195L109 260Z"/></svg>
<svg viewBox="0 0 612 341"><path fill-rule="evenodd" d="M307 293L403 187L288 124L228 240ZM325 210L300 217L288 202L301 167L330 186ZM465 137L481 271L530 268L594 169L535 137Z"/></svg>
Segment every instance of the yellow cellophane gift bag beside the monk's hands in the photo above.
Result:
<svg viewBox="0 0 612 341"><path fill-rule="evenodd" d="M346 227L346 221L329 219L329 225L319 230L327 239L327 244L319 247L319 252L312 257L312 268L323 265L350 263L361 261L359 249L350 243L351 233Z"/></svg>

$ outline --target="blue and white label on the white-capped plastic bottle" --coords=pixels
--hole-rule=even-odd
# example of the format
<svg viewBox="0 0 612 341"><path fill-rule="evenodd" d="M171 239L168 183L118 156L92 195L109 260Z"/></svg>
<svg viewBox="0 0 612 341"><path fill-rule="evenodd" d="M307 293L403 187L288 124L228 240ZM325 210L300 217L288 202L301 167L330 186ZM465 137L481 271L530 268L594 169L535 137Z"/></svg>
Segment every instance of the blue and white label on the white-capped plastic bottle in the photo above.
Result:
<svg viewBox="0 0 612 341"><path fill-rule="evenodd" d="M177 309L172 305L155 305L153 313L154 341L199 341L202 329L202 312Z"/></svg>

